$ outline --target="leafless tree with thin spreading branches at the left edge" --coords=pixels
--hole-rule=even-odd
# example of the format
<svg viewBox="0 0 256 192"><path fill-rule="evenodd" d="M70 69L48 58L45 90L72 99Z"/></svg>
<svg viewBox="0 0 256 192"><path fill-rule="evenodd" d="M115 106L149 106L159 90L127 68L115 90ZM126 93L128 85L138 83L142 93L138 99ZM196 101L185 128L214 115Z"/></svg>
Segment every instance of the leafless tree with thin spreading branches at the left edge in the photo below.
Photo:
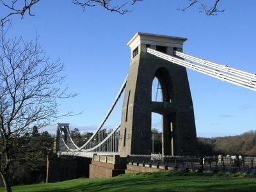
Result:
<svg viewBox="0 0 256 192"><path fill-rule="evenodd" d="M11 164L26 160L31 152L23 148L20 138L26 138L33 125L44 127L58 118L58 99L75 96L63 87L62 71L63 64L45 56L38 38L31 42L7 39L1 29L0 175L7 191L11 191Z"/></svg>

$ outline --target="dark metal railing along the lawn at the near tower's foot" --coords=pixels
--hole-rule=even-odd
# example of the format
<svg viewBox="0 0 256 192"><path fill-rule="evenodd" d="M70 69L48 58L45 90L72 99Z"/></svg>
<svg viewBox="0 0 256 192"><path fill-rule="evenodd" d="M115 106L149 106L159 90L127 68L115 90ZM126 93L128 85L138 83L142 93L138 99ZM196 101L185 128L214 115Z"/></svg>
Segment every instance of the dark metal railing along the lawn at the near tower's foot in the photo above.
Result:
<svg viewBox="0 0 256 192"><path fill-rule="evenodd" d="M149 167L163 166L173 170L256 173L256 157L219 159L218 157L131 155L127 158L127 163L142 166L147 164Z"/></svg>

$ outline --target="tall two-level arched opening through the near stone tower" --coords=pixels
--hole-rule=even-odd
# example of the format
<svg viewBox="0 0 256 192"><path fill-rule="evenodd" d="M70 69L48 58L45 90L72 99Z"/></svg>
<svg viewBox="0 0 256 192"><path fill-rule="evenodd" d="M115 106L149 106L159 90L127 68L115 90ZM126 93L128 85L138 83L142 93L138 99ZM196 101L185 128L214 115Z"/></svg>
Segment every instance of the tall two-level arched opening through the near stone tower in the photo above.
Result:
<svg viewBox="0 0 256 192"><path fill-rule="evenodd" d="M173 154L173 120L170 111L166 110L173 97L170 72L164 67L159 68L152 81L151 100L157 106L151 113L152 154Z"/></svg>

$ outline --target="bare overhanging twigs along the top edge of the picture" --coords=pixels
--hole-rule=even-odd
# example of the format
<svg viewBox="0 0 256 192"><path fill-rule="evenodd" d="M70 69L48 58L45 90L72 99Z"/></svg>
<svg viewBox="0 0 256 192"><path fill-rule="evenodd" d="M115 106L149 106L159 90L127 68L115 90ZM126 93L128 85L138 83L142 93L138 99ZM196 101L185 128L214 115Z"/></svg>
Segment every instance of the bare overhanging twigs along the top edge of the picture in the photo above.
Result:
<svg viewBox="0 0 256 192"><path fill-rule="evenodd" d="M143 0L71 0L72 3L81 6L83 10L87 7L92 6L102 6L106 10L110 12L116 12L120 14L125 14L131 12L127 6L134 5L138 1ZM220 4L220 0L211 0L211 3L205 4L205 0L185 0L188 1L188 6L184 8L179 8L177 10L185 11L191 6L196 6L196 4L200 4L200 12L204 12L206 15L217 15L220 12L224 12L224 10L219 10L218 6ZM39 3L40 0L0 0L0 5L3 7L3 15L0 15L0 26L3 26L5 22L10 20L10 17L13 15L21 15L21 18L24 17L26 13L31 16L34 14L31 12L31 8L35 6L35 4ZM209 1L207 1L209 2Z"/></svg>

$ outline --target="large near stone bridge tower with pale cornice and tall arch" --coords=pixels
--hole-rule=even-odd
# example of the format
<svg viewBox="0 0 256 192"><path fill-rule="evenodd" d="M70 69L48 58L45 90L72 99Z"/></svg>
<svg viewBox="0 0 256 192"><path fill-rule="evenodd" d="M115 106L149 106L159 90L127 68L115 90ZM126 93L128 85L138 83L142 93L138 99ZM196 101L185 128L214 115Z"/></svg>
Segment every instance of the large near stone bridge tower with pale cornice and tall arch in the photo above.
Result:
<svg viewBox="0 0 256 192"><path fill-rule="evenodd" d="M148 54L156 49L173 55L182 52L186 38L136 33L128 42L131 63L125 88L120 129L119 153L151 154L152 112L163 117L162 154L196 154L196 129L193 103L186 68ZM152 82L161 84L161 102L152 101Z"/></svg>

